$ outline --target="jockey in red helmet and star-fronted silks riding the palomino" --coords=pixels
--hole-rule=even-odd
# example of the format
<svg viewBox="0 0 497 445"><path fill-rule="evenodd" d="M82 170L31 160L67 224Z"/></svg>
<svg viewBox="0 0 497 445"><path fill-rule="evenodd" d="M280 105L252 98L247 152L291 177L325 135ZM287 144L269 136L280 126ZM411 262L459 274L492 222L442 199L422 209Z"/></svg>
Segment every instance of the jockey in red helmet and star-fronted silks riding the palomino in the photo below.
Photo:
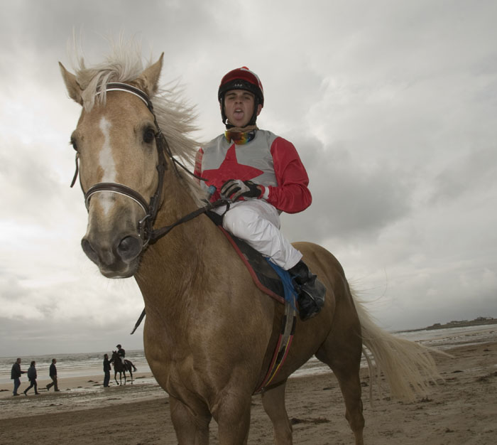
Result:
<svg viewBox="0 0 497 445"><path fill-rule="evenodd" d="M302 320L324 304L326 288L302 262L302 254L280 232L280 213L298 213L312 197L309 178L293 144L258 129L264 105L261 80L249 68L231 70L221 80L219 107L226 132L201 147L195 173L214 202L231 201L223 227L293 277Z"/></svg>

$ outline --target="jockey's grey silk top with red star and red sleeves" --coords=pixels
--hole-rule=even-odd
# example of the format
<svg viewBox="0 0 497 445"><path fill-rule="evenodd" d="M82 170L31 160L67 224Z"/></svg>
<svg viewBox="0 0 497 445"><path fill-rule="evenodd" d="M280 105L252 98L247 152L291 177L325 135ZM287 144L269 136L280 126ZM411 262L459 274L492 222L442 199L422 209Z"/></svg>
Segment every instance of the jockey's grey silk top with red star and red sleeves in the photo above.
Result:
<svg viewBox="0 0 497 445"><path fill-rule="evenodd" d="M312 201L309 178L295 146L267 130L257 130L253 140L241 145L220 134L198 151L195 174L207 179L202 187L213 191L212 201L220 198L219 191L229 179L250 179L263 186L261 198L279 212L302 212Z"/></svg>

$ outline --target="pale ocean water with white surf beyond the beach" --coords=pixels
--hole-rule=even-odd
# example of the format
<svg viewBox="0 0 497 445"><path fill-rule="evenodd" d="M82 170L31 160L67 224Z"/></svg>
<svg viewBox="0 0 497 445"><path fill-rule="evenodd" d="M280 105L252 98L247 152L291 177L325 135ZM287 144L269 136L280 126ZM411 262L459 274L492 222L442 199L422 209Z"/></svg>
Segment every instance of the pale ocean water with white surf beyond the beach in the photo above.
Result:
<svg viewBox="0 0 497 445"><path fill-rule="evenodd" d="M495 341L497 338L497 325L404 331L395 332L395 335L422 343L430 348L446 350L457 347L457 345L471 345L485 343L486 341ZM0 384L11 382L11 368L16 358L0 357ZM63 377L103 376L104 374L102 365L104 360L103 352L21 357L21 369L27 371L31 360L35 360L38 379L48 379L48 368L53 358L57 359L59 379ZM151 372L143 350L126 350L126 358L133 362L136 368L138 368L138 372ZM364 358L363 362L363 366L366 366ZM303 377L324 372L329 372L329 368L313 357L302 368L294 372L292 376Z"/></svg>

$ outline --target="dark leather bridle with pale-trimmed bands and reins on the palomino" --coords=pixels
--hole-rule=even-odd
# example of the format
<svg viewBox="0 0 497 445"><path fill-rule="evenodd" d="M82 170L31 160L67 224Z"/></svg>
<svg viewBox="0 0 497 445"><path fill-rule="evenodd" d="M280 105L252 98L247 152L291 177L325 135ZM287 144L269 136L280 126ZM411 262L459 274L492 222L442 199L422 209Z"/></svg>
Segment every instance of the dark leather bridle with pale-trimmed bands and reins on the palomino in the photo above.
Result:
<svg viewBox="0 0 497 445"><path fill-rule="evenodd" d="M227 203L225 200L218 200L215 203L207 203L207 205L204 205L204 207L198 208L192 213L185 215L184 217L180 218L172 225L167 225L165 227L161 227L160 229L154 230L153 224L155 223L155 218L157 218L157 213L159 210L159 205L163 193L164 174L168 168L168 163L165 159L164 154L165 153L168 154L168 158L173 162L173 166L175 166L176 173L179 174L178 168L176 167L178 165L183 169L185 169L187 173L190 173L190 175L195 176L195 178L200 179L201 181L205 181L205 179L196 176L194 173L189 171L182 163L180 163L180 161L174 158L170 150L170 147L168 145L168 141L165 139L165 136L163 132L160 130L160 127L158 125L157 117L155 117L155 112L153 111L153 104L145 92L139 90L136 87L133 87L132 85L128 85L126 83L121 83L121 82L109 82L107 83L107 85L105 85L104 89L107 91L123 91L133 94L139 97L143 101L143 103L146 104L146 106L152 113L153 122L155 124L155 135L154 135L155 146L157 148L157 155L158 155L158 163L157 166L155 166L158 172L158 184L157 184L157 189L155 190L155 193L153 194L149 202L147 202L147 200L143 198L143 196L137 191L134 191L132 188L124 186L123 184L120 183L109 183L109 182L96 183L93 186L91 186L86 192L83 190L83 187L81 186L82 191L84 193L84 204L86 205L87 211L89 211L90 200L92 196L95 195L96 193L111 192L131 198L135 203L137 203L142 208L143 213L145 213L145 216L138 221L138 227L137 227L138 236L141 237L141 240L143 242L143 247L142 247L143 250L149 243L153 244L160 237L166 235L168 232L170 232L170 230L172 230L177 225L192 220L193 218L196 218L198 215L201 215L202 213L206 213L208 210L211 210L212 208L220 207L222 205L229 205L229 203ZM100 95L101 93L102 90L99 89L97 90L96 95ZM79 155L76 153L76 171L74 177L72 178L71 187L75 185L77 175L80 170L78 160L79 160Z"/></svg>

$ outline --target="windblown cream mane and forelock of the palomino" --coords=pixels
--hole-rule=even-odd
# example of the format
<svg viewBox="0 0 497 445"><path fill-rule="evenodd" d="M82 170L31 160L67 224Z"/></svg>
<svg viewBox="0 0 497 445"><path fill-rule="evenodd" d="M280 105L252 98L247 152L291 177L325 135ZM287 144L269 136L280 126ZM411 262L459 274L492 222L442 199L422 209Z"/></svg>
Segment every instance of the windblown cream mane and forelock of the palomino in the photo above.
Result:
<svg viewBox="0 0 497 445"><path fill-rule="evenodd" d="M74 49L77 56L79 52L76 47ZM76 80L83 90L84 109L92 109L95 100L105 103L107 83L132 82L150 65L152 65L151 60L143 63L141 46L138 43L126 42L122 38L118 43L111 41L111 53L102 63L87 68L84 59L77 56L73 68ZM96 94L98 90L102 91L99 95ZM197 114L195 107L187 104L183 99L182 93L182 87L178 82L170 82L166 87L159 87L150 100L173 156L193 166L200 144L190 134L197 130L195 125ZM189 182L194 197L197 200L205 198L205 193L201 191L197 181Z"/></svg>

